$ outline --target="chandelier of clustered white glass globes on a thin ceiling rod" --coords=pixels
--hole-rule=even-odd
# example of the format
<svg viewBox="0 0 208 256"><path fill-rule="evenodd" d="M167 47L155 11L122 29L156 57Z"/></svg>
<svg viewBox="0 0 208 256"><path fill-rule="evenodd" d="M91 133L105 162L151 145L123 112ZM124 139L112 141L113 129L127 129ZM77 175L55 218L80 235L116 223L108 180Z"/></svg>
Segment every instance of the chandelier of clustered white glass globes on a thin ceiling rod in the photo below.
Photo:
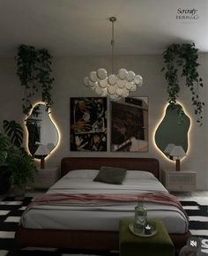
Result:
<svg viewBox="0 0 208 256"><path fill-rule="evenodd" d="M100 68L97 72L90 72L89 77L85 77L84 83L86 87L91 87L96 94L100 96L108 96L111 100L119 100L121 98L128 97L130 92L137 90L137 87L142 86L142 77L136 75L135 72L127 71L122 68L117 74L114 74L114 23L115 17L109 18L112 22L112 39L111 39L111 74L108 76L108 72L104 68Z"/></svg>

